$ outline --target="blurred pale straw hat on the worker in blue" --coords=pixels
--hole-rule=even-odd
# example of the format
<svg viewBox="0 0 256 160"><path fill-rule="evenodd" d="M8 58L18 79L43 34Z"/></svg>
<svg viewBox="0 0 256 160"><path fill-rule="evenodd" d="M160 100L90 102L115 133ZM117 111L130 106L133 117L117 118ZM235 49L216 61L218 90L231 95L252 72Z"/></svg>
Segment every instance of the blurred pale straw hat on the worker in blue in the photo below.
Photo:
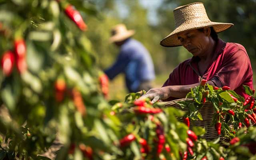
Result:
<svg viewBox="0 0 256 160"><path fill-rule="evenodd" d="M112 28L110 42L121 42L134 35L134 30L127 30L124 24L118 24Z"/></svg>

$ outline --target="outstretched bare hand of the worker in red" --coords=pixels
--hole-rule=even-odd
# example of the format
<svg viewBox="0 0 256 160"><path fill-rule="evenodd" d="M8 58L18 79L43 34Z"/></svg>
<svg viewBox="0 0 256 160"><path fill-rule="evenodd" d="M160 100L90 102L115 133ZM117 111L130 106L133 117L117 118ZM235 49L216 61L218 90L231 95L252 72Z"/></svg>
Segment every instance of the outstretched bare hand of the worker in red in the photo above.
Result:
<svg viewBox="0 0 256 160"><path fill-rule="evenodd" d="M139 99L149 98L154 103L158 100L164 100L170 97L170 86L161 87L161 88L152 88L146 94L141 96Z"/></svg>

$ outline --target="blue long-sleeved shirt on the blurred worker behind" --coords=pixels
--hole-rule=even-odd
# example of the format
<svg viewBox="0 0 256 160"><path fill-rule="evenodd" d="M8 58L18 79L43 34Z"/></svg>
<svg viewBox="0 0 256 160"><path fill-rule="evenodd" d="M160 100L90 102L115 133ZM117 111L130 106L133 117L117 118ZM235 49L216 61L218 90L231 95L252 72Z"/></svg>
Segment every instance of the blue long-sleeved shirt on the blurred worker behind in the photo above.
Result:
<svg viewBox="0 0 256 160"><path fill-rule="evenodd" d="M154 65L148 50L132 38L120 47L116 62L105 73L110 80L119 73L124 73L126 87L130 92L136 92L141 82L155 78Z"/></svg>

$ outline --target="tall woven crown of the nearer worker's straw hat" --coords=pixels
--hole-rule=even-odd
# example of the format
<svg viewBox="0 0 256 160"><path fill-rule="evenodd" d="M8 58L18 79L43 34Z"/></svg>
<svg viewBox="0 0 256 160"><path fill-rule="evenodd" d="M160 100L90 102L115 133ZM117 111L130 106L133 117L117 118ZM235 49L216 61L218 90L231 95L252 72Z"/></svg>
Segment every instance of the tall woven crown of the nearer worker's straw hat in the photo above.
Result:
<svg viewBox="0 0 256 160"><path fill-rule="evenodd" d="M203 3L192 3L174 9L175 28L182 24L211 22Z"/></svg>

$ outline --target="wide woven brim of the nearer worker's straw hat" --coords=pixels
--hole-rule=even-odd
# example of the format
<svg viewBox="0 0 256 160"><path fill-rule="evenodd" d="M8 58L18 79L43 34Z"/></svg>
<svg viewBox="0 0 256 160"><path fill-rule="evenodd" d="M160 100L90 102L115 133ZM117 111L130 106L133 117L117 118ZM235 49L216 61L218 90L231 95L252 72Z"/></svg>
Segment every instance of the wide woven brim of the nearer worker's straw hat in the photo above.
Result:
<svg viewBox="0 0 256 160"><path fill-rule="evenodd" d="M227 30L228 28L234 26L232 23L220 23L220 22L204 22L204 23L194 23L194 24L184 24L178 26L172 33L161 40L160 45L164 47L176 47L182 46L181 42L178 40L177 34L185 32L188 30L194 30L204 27L213 27L216 33Z"/></svg>

